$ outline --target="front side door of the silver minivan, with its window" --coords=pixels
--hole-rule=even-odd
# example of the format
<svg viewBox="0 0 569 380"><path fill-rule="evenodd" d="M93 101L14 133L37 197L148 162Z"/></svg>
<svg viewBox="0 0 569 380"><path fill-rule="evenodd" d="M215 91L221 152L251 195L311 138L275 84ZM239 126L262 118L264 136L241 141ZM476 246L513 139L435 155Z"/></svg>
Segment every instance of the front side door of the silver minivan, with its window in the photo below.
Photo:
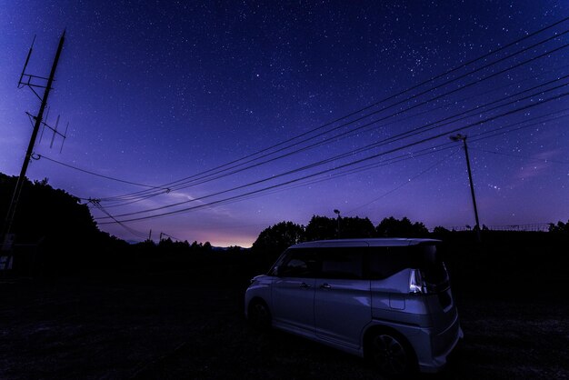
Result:
<svg viewBox="0 0 569 380"><path fill-rule="evenodd" d="M273 284L276 323L314 334L314 284L319 263L308 248L290 249Z"/></svg>

